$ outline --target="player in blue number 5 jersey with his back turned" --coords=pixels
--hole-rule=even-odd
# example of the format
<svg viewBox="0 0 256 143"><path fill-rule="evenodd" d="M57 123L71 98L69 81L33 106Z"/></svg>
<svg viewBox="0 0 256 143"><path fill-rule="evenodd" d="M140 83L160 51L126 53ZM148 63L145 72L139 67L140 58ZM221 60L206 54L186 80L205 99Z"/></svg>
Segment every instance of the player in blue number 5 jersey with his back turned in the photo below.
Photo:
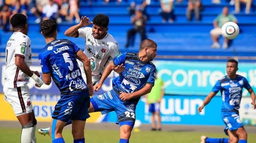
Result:
<svg viewBox="0 0 256 143"><path fill-rule="evenodd" d="M38 56L43 80L49 85L53 79L61 91L61 98L52 114L49 133L53 143L64 143L61 133L71 119L74 143L84 143L84 126L90 117L90 95L93 94L90 60L75 43L66 39L57 40L56 29L57 24L53 20L40 23L41 33L47 43ZM84 64L87 86L76 58Z"/></svg>

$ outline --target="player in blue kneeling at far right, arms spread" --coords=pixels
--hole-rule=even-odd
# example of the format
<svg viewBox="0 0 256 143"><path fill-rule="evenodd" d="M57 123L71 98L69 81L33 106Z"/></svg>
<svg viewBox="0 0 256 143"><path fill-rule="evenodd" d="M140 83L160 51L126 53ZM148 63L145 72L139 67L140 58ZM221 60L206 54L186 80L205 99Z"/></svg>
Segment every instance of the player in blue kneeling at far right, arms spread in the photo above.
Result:
<svg viewBox="0 0 256 143"><path fill-rule="evenodd" d="M240 108L243 88L247 89L251 95L253 109L256 108L255 93L247 79L236 74L238 62L235 59L230 59L227 62L226 70L228 75L217 81L210 94L204 99L203 105L198 108L198 112L200 113L220 91L222 95L221 117L226 124L224 132L229 136L229 139L201 136L201 143L247 143L247 133L239 118L238 109Z"/></svg>

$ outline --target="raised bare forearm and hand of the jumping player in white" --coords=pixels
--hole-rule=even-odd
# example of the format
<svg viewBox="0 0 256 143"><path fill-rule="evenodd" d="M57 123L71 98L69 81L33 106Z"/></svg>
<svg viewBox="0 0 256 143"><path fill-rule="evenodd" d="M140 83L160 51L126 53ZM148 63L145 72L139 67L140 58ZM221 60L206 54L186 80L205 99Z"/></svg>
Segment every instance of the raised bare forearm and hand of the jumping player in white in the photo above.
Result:
<svg viewBox="0 0 256 143"><path fill-rule="evenodd" d="M67 29L64 34L68 37L78 37L79 33L77 33L77 30L79 30L83 26L88 26L88 25L92 24L92 22L89 22L89 21L90 21L89 18L82 17L79 24L76 24L76 25L72 26L71 28Z"/></svg>

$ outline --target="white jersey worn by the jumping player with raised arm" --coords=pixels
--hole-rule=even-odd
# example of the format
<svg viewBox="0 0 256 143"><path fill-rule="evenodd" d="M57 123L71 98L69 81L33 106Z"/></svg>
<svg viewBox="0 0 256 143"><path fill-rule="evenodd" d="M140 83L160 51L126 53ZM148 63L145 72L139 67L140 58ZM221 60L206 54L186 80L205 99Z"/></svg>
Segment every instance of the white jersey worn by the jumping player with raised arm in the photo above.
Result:
<svg viewBox="0 0 256 143"><path fill-rule="evenodd" d="M76 37L85 39L84 54L91 61L92 75L101 77L111 59L121 54L119 44L109 33L101 40L95 39L90 27L80 28L76 33Z"/></svg>

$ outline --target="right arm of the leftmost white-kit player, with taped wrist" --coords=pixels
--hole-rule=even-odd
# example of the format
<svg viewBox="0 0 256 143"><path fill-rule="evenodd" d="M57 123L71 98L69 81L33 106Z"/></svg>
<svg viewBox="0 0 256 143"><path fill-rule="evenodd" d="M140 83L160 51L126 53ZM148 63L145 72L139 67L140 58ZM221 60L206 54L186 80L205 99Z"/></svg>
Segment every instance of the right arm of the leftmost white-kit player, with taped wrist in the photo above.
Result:
<svg viewBox="0 0 256 143"><path fill-rule="evenodd" d="M20 39L18 42L20 44L17 44L15 47L15 65L23 73L33 78L36 81L36 84L38 85L38 87L41 87L43 85L43 81L29 69L28 65L24 61L25 55L27 52L26 47L30 46L30 40L28 39L28 37L26 37L24 39Z"/></svg>

